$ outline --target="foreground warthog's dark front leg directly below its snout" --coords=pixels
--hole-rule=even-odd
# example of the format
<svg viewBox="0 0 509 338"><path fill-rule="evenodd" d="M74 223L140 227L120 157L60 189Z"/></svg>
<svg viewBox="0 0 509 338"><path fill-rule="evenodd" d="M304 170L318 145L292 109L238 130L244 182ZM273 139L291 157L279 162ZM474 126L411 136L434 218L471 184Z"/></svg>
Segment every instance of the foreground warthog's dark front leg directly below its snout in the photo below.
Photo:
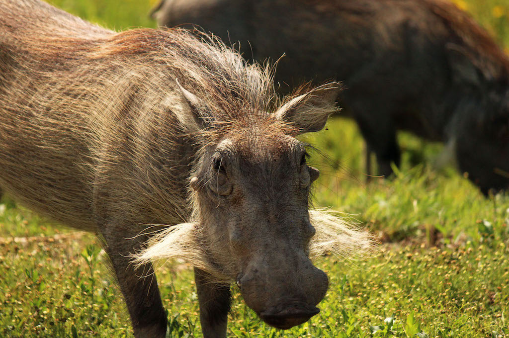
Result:
<svg viewBox="0 0 509 338"><path fill-rule="evenodd" d="M194 268L194 280L204 338L226 338L230 286L214 283L207 272L197 268Z"/></svg>

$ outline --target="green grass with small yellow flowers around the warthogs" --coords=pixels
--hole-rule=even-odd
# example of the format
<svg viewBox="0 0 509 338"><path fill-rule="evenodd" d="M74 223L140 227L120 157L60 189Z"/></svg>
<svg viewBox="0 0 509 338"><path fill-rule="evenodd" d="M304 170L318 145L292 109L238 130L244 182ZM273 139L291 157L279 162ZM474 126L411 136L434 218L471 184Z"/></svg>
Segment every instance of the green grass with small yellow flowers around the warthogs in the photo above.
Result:
<svg viewBox="0 0 509 338"><path fill-rule="evenodd" d="M457 2L509 45L509 1ZM154 2L52 3L117 30L155 26L147 16ZM306 137L319 149L311 159L322 172L315 204L352 214L380 236L379 253L362 262L317 262L330 278L321 313L287 331L263 324L233 288L229 336L509 336L509 195L485 199L453 167L435 168L440 144L406 133L395 178L366 183L355 124L334 118L327 127ZM92 234L55 226L4 198L0 237L0 337L132 336ZM168 336L201 337L190 268L169 263L158 279Z"/></svg>

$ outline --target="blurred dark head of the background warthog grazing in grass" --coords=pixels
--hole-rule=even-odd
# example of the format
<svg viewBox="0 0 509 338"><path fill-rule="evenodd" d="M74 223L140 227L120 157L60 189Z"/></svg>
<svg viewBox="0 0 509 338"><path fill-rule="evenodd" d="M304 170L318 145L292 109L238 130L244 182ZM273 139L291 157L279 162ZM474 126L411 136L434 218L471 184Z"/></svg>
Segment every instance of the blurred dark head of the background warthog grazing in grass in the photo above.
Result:
<svg viewBox="0 0 509 338"><path fill-rule="evenodd" d="M461 49L455 57L455 79L468 91L449 130L459 169L485 195L509 190L509 66L481 67Z"/></svg>

